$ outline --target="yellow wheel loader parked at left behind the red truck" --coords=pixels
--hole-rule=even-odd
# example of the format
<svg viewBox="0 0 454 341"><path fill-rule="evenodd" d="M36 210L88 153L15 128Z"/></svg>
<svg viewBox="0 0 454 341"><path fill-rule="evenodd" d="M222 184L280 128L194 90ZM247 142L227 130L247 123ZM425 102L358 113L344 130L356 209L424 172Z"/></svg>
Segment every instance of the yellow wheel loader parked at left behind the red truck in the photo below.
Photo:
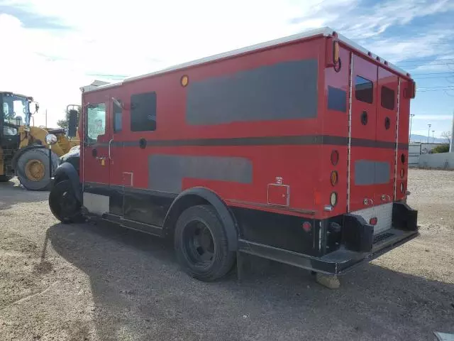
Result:
<svg viewBox="0 0 454 341"><path fill-rule="evenodd" d="M79 144L78 134L69 139L65 129L48 129L31 126L32 97L12 92L0 92L0 181L8 181L17 175L28 190L48 190L50 187L50 163L52 172L58 166L58 158ZM39 105L35 103L35 112ZM54 134L57 143L49 146L45 136Z"/></svg>

